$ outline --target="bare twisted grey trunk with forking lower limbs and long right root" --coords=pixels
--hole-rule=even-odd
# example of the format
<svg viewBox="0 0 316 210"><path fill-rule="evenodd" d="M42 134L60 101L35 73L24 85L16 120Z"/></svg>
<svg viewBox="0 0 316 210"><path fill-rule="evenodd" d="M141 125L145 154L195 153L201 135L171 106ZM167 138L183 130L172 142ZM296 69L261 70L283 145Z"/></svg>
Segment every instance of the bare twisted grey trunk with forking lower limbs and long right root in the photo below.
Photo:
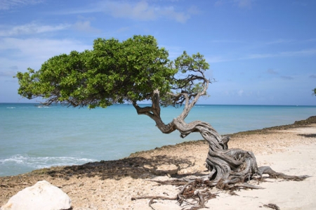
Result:
<svg viewBox="0 0 316 210"><path fill-rule="evenodd" d="M206 86L207 88L207 86ZM200 93L202 95L203 93ZM185 96L185 94L184 94ZM186 96L185 96L186 97ZM160 117L159 106L159 91L155 90L152 96L151 107L139 107L137 103L133 103L138 114L145 114L152 118L162 133L171 133L178 130L180 137L185 138L193 132L201 133L204 140L209 143L209 152L206 158L206 168L209 169L209 176L205 178L211 181L209 185L216 186L221 189L230 189L235 187L244 188L260 188L254 185L249 185L249 181L253 176L262 176L267 173L272 177L279 177L292 180L303 180L308 176L286 176L283 173L277 173L268 166L258 168L256 157L253 152L240 149L229 149L229 136L220 136L211 124L201 121L185 123L185 117L190 112L192 107L197 102L199 96L191 102L187 99L183 112L172 120L169 124L164 124Z"/></svg>

